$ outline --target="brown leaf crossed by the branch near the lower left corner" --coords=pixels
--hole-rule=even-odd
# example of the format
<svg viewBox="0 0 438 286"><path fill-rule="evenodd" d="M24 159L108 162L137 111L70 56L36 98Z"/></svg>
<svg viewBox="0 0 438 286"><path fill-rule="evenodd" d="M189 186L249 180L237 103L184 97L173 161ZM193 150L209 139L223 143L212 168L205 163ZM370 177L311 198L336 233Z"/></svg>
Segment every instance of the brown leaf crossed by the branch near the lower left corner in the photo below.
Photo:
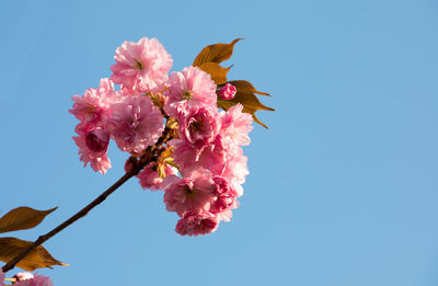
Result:
<svg viewBox="0 0 438 286"><path fill-rule="evenodd" d="M33 242L31 241L21 240L18 238L0 238L0 260L7 263L32 244ZM32 250L16 264L16 266L25 271L34 271L43 267L51 268L53 265L67 266L68 264L54 259L42 245L38 245L36 249Z"/></svg>

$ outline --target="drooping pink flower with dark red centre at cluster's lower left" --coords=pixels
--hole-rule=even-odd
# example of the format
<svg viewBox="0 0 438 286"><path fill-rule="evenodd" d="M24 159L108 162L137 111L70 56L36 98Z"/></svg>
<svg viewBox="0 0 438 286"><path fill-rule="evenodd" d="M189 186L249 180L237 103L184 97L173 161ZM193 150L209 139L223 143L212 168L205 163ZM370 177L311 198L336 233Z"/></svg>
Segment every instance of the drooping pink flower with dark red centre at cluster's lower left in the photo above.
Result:
<svg viewBox="0 0 438 286"><path fill-rule="evenodd" d="M88 129L85 124L78 124L76 130L79 136L73 136L79 147L80 160L84 167L90 163L91 168L105 174L111 168L111 161L106 157L110 142L110 133L105 129Z"/></svg>

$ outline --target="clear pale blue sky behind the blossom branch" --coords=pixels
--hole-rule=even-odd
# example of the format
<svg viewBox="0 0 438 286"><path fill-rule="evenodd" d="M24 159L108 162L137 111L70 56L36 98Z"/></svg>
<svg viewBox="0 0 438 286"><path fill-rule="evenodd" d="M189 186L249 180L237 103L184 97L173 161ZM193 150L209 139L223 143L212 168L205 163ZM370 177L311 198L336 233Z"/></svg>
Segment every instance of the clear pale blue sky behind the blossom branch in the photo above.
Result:
<svg viewBox="0 0 438 286"><path fill-rule="evenodd" d="M161 192L128 182L45 245L57 286L438 284L438 2L3 0L0 214L58 206L34 240L123 174L94 173L71 139L71 96L111 75L124 41L157 37L172 70L237 44L230 79L261 112L231 222L180 237Z"/></svg>

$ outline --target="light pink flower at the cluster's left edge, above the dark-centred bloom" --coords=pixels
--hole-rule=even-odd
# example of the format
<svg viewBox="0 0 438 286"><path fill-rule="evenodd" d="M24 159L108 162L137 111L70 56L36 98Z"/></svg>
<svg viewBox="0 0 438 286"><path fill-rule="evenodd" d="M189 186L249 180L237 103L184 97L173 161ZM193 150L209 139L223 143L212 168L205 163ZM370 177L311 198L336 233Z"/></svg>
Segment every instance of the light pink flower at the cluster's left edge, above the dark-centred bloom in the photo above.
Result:
<svg viewBox="0 0 438 286"><path fill-rule="evenodd" d="M105 125L111 116L110 105L114 94L113 82L110 79L102 79L99 89L88 89L82 96L73 95L71 98L74 104L69 113L89 125Z"/></svg>

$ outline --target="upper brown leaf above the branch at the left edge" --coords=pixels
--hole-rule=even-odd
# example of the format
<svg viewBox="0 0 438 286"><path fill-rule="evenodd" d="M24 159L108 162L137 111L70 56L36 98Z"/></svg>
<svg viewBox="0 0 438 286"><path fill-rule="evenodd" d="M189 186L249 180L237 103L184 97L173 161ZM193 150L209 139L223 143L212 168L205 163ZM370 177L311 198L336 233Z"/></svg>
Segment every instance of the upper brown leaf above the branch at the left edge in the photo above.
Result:
<svg viewBox="0 0 438 286"><path fill-rule="evenodd" d="M14 208L0 218L0 233L34 228L55 209L57 207L48 210L36 210L30 207Z"/></svg>

